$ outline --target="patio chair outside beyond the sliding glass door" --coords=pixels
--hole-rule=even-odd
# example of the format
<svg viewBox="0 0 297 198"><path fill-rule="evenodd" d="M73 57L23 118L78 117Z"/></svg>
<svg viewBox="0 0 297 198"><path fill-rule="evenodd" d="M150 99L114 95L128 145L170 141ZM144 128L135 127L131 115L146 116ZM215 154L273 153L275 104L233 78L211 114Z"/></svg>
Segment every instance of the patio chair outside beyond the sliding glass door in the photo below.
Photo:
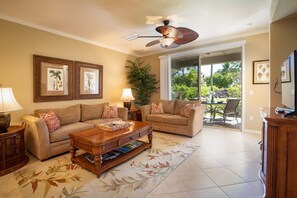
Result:
<svg viewBox="0 0 297 198"><path fill-rule="evenodd" d="M216 114L221 114L223 116L224 124L226 124L226 117L230 115L234 115L236 122L238 124L237 116L237 107L239 105L240 99L228 99L227 104L224 109L215 108L213 112L213 120L216 118Z"/></svg>

